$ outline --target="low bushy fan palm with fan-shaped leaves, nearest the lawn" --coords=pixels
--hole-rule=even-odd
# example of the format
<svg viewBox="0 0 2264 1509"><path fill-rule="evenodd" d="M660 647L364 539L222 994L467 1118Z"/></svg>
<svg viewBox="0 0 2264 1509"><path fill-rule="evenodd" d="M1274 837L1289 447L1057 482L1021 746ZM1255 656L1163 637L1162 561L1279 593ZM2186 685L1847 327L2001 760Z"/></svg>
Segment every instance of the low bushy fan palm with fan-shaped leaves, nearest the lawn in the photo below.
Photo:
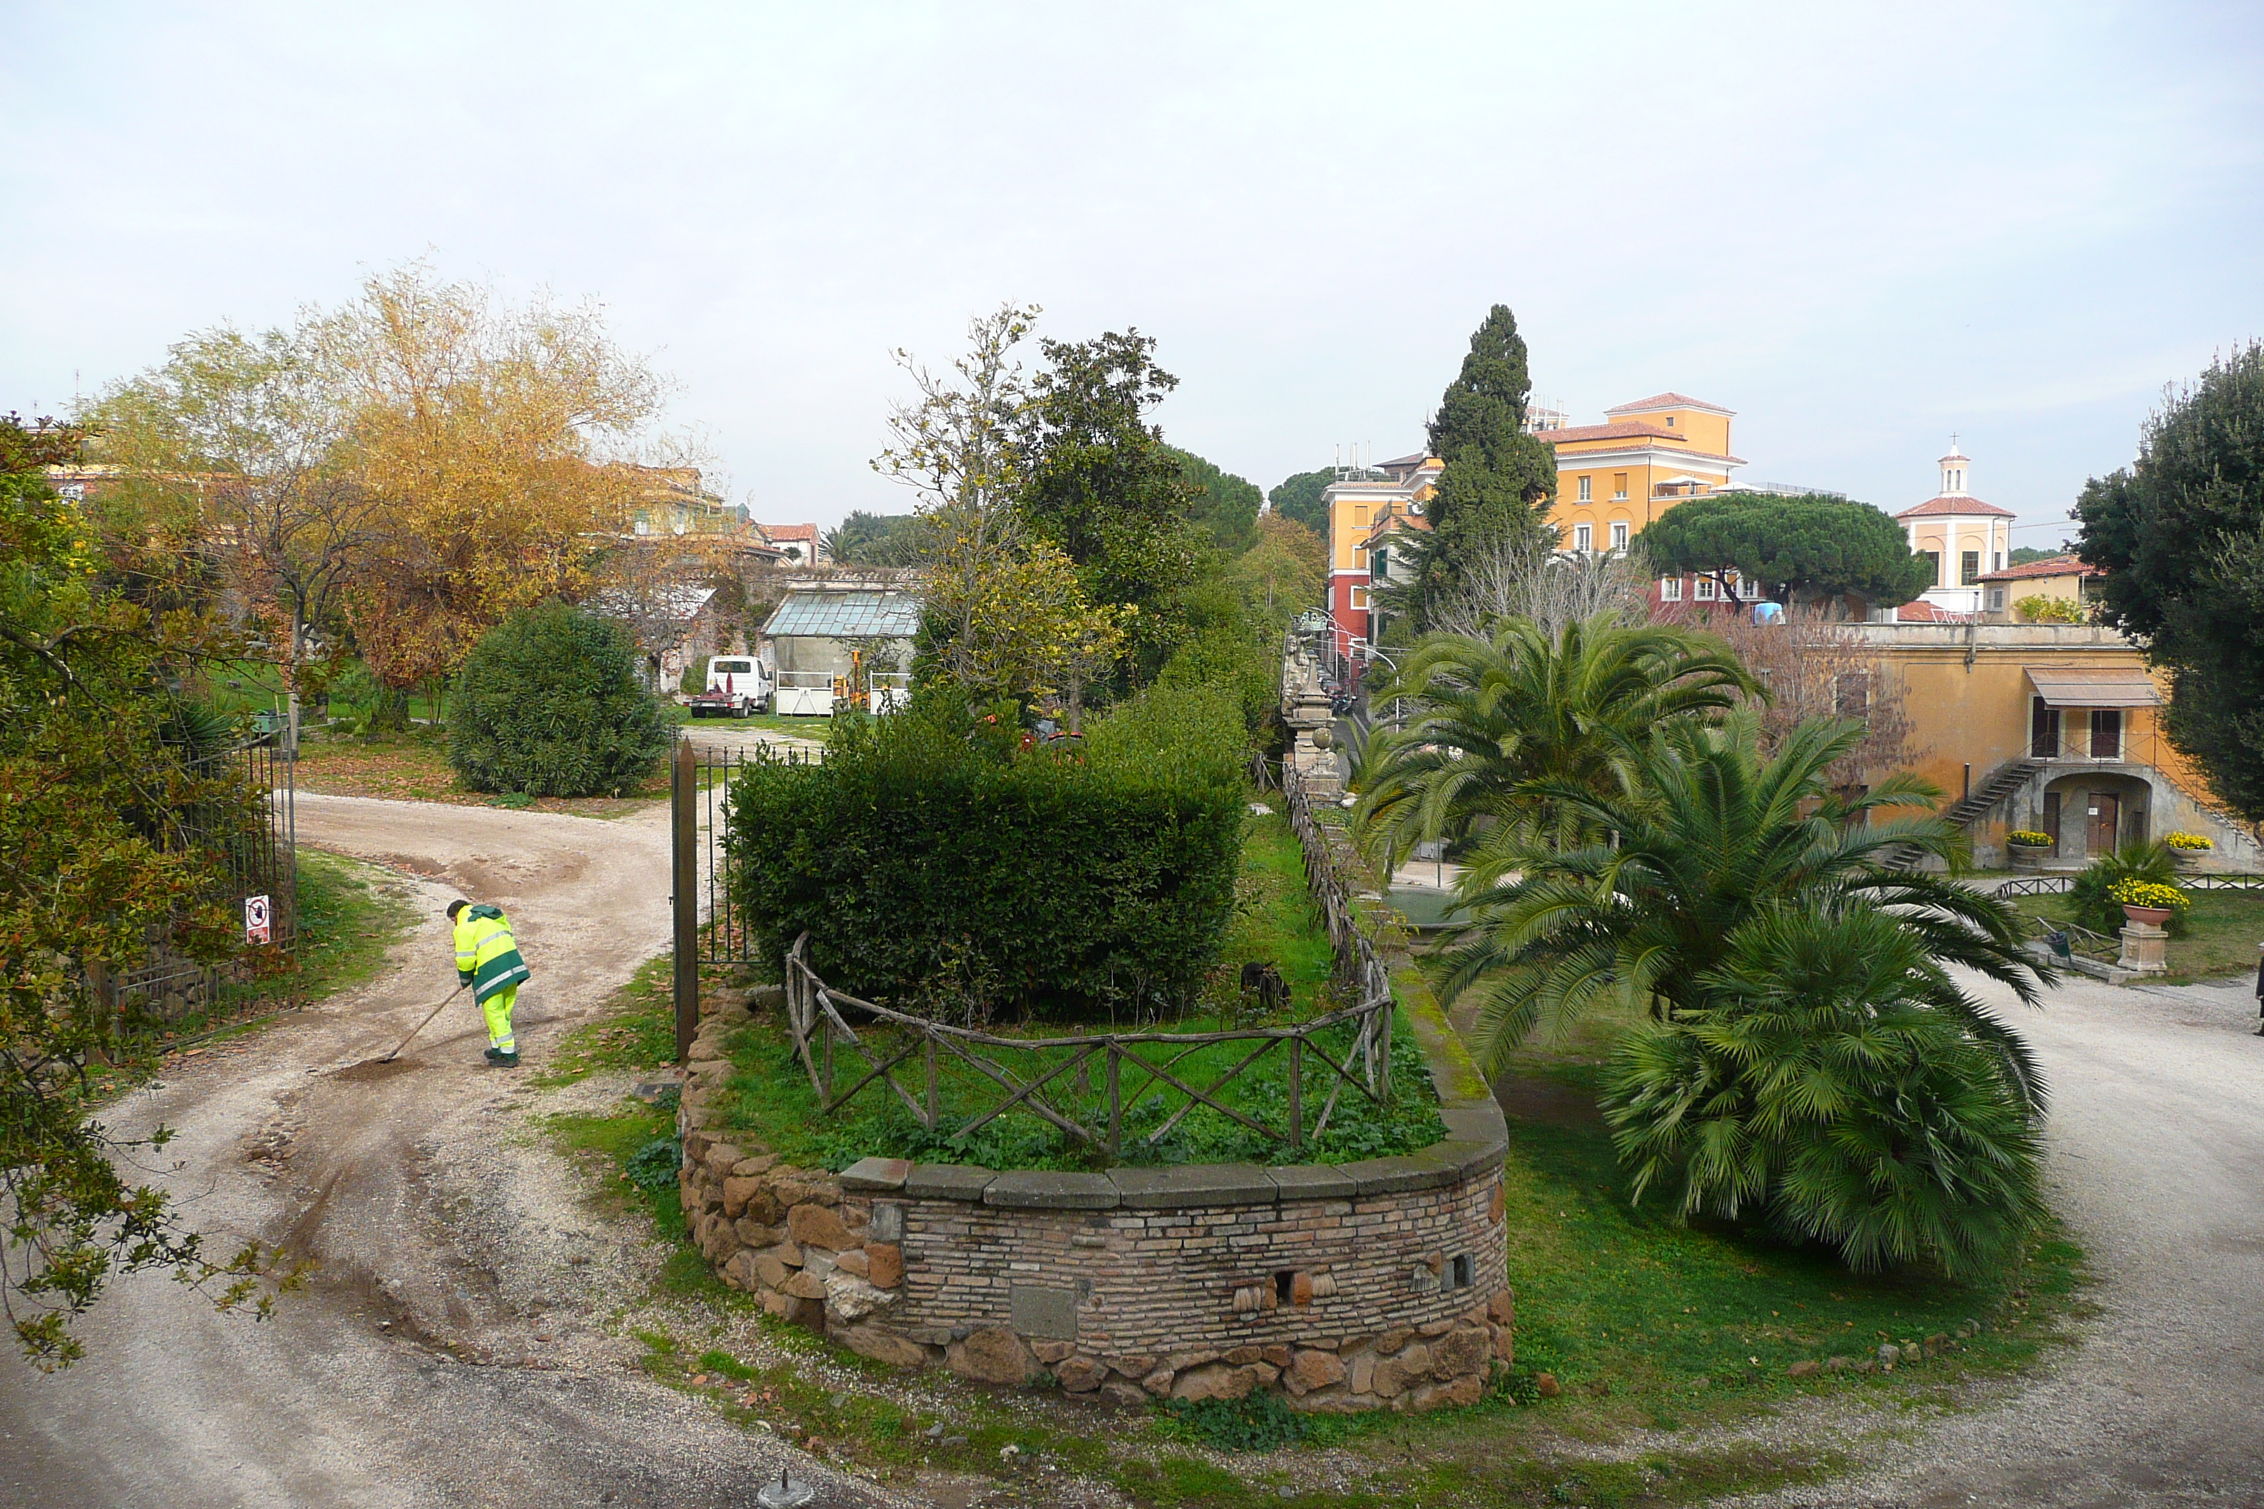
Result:
<svg viewBox="0 0 2264 1509"><path fill-rule="evenodd" d="M1764 1215L1856 1269L2001 1262L2042 1210L2024 1088L1890 912L1761 912L1705 1004L1628 1036L1605 1118L1641 1199Z"/></svg>

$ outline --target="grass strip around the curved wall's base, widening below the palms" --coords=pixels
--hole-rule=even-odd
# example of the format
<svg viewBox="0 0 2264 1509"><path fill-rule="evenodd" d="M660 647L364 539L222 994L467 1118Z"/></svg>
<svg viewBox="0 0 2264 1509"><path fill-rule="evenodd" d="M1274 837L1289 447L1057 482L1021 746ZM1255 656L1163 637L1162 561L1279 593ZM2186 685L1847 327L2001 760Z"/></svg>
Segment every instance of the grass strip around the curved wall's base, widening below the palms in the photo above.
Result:
<svg viewBox="0 0 2264 1509"><path fill-rule="evenodd" d="M1578 1095L1578 1059L1605 1041L1589 1034L1573 1052L1551 1057L1567 1093ZM618 993L614 1014L566 1036L541 1081L657 1068L672 1043L663 957ZM1537 1072L1542 1061L1521 1068ZM1632 1509L1823 1482L1847 1468L1850 1441L1784 1443L1784 1432L1773 1432L1777 1441L1755 1443L1705 1428L1782 1409L1804 1394L1877 1400L1895 1419L1913 1405L1954 1407L1958 1378L2033 1360L2081 1305L2078 1253L2063 1242L2040 1242L2019 1276L1988 1290L1859 1281L1813 1256L1630 1215L1614 1195L1616 1174L1598 1133L1512 1122L1510 1262L1521 1364L1512 1382L1469 1409L1413 1419L1155 1405L1109 1414L1096 1430L1089 1407L1055 1403L1044 1380L998 1391L937 1373L894 1373L804 1330L752 1319L747 1296L718 1283L684 1242L668 1109L623 1100L611 1115L552 1115L543 1124L586 1163L602 1210L650 1219L672 1244L652 1296L666 1319L636 1333L654 1380L878 1482L917 1491L919 1473L942 1471L960 1482L987 1480L996 1502L1060 1502L1062 1493L1048 1495L1060 1484L1048 1464L1143 1509ZM661 1156L641 1165L654 1142ZM641 1176L654 1165L668 1176ZM722 1317L758 1326L761 1346L720 1344ZM1938 1360L1886 1376L1784 1376L1800 1357L1872 1351L1888 1337L1922 1342L1965 1317L1986 1330ZM1533 1394L1542 1366L1567 1385L1562 1396ZM942 1434L931 1434L937 1425ZM1669 1434L1614 1448L1635 1428ZM1001 1459L1005 1446L1019 1452Z"/></svg>

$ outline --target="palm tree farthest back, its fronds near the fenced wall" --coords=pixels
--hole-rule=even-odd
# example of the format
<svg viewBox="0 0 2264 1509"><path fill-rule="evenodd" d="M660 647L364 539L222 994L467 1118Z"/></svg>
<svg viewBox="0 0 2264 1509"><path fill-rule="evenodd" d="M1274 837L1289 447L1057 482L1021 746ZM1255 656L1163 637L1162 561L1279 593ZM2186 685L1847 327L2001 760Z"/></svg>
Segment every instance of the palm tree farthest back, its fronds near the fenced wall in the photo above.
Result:
<svg viewBox="0 0 2264 1509"><path fill-rule="evenodd" d="M1415 844L1474 830L1562 828L1540 785L1607 794L1639 735L1757 692L1714 638L1596 613L1549 631L1510 618L1490 638L1433 633L1370 695L1413 715L1361 760L1356 830L1386 869Z"/></svg>

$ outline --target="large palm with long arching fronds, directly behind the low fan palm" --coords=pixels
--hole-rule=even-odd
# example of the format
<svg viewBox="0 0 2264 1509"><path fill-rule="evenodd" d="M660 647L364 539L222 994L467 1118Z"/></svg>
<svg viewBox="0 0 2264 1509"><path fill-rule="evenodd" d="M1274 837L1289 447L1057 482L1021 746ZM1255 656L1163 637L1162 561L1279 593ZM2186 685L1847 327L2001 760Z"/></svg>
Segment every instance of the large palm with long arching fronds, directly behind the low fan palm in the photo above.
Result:
<svg viewBox="0 0 2264 1509"><path fill-rule="evenodd" d="M1965 998L1949 968L1979 971L2026 1004L2056 973L2022 952L2010 905L1886 864L1904 846L1947 860L1961 835L1931 814L1940 790L1918 776L1832 790L1832 762L1861 735L1852 719L1813 719L1768 758L1750 710L1718 726L1680 719L1619 740L1621 792L1526 783L1524 801L1555 803L1596 837L1560 848L1503 826L1474 846L1458 891L1467 921L1442 957L1440 991L1449 1002L1476 998L1478 1061L1497 1068L1530 1032L1562 1029L1605 1000L1655 1020L1703 1009L1707 977L1755 919L1879 912L1915 948L1911 989L1983 1043L2022 1104L2040 1109L2026 1045ZM1881 817L1893 808L1918 814Z"/></svg>

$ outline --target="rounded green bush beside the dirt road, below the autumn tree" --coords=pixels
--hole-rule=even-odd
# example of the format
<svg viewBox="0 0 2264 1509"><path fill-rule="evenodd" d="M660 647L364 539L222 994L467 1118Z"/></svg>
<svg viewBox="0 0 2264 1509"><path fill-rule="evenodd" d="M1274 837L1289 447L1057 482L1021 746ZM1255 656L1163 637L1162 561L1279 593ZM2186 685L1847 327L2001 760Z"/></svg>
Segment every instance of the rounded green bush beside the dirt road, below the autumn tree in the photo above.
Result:
<svg viewBox="0 0 2264 1509"><path fill-rule="evenodd" d="M512 613L464 658L448 762L473 792L620 796L652 774L670 738L636 643L552 602Z"/></svg>

